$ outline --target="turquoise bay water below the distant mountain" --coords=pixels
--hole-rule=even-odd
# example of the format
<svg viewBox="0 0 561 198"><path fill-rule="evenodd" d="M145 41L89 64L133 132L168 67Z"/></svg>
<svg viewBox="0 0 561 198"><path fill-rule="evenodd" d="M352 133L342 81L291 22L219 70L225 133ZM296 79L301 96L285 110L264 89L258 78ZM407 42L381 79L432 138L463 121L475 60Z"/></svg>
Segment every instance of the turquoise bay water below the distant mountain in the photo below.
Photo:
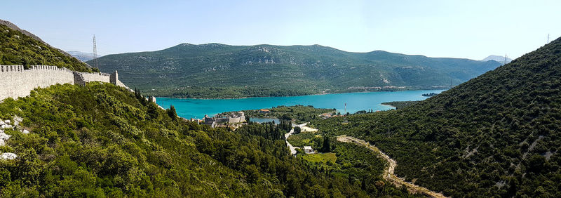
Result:
<svg viewBox="0 0 561 198"><path fill-rule="evenodd" d="M177 115L184 118L203 118L205 114L212 117L222 112L239 110L257 110L279 105L313 105L318 108L336 108L342 114L360 110L390 110L393 107L381 105L384 102L424 100L423 93L440 93L444 90L416 91L379 91L363 93L334 93L323 95L302 95L290 97L263 97L240 99L189 99L189 98L156 98L158 105L175 107Z"/></svg>

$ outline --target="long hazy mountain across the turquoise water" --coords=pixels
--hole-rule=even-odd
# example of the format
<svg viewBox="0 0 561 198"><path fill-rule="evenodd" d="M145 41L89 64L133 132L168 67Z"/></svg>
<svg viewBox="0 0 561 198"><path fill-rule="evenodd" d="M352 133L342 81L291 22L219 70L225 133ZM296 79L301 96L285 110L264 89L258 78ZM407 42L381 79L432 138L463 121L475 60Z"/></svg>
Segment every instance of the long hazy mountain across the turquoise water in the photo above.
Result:
<svg viewBox="0 0 561 198"><path fill-rule="evenodd" d="M97 60L100 70L119 70L123 83L145 93L187 98L447 88L501 65L386 51L351 53L318 45L180 44Z"/></svg>

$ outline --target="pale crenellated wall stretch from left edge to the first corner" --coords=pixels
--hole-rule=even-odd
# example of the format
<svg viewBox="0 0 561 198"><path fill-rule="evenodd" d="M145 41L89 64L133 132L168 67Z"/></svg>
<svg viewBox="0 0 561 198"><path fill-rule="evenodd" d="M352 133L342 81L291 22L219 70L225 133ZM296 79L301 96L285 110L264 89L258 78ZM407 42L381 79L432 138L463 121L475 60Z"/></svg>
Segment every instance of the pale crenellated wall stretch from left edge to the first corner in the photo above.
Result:
<svg viewBox="0 0 561 198"><path fill-rule="evenodd" d="M35 65L30 70L24 70L22 65L0 65L0 100L25 97L34 88L54 84L74 84L72 71L46 65Z"/></svg>

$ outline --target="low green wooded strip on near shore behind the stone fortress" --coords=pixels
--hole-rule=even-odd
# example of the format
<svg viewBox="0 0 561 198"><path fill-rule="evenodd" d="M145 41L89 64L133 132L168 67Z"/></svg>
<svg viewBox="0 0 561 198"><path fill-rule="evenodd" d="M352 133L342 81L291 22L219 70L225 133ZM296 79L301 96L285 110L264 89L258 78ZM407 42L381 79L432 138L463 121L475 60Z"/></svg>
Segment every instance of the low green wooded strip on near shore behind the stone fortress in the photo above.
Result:
<svg viewBox="0 0 561 198"><path fill-rule="evenodd" d="M316 119L320 114L335 112L334 109L314 108L311 105L277 106L267 110L270 112L263 113L259 112L259 110L243 110L243 112L245 112L246 117L276 117L278 119L291 120L297 124Z"/></svg>

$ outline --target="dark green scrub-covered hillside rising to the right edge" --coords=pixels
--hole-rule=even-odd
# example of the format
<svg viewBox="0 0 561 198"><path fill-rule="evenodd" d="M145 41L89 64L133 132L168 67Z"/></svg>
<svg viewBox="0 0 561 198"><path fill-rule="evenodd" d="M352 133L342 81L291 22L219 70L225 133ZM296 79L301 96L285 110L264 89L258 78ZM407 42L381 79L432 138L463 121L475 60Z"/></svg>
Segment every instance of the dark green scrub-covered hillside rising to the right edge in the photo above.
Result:
<svg viewBox="0 0 561 198"><path fill-rule="evenodd" d="M370 141L447 196L561 197L561 39L400 110L313 124Z"/></svg>

